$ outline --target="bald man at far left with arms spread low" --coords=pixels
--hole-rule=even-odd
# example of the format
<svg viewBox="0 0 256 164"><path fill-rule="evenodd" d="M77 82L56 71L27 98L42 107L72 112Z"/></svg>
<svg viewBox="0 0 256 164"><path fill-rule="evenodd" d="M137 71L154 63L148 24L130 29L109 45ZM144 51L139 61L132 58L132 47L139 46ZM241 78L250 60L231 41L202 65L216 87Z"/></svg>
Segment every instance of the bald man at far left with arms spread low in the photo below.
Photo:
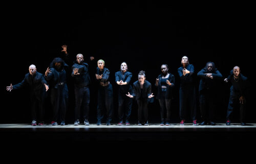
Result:
<svg viewBox="0 0 256 164"><path fill-rule="evenodd" d="M35 65L29 66L29 73L25 75L22 82L16 85L10 85L6 87L7 91L23 88L26 85L29 86L29 95L31 102L31 115L32 115L32 126L44 125L44 105L46 98L46 91L49 89L49 85L46 82L44 75L36 71ZM38 115L37 115L38 112Z"/></svg>

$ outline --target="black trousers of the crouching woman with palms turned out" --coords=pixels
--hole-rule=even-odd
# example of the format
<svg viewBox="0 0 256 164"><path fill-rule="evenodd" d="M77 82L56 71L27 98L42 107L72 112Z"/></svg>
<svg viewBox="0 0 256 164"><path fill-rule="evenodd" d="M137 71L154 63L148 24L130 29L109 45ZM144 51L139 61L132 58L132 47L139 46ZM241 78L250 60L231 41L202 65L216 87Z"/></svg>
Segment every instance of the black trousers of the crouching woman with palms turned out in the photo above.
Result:
<svg viewBox="0 0 256 164"><path fill-rule="evenodd" d="M138 104L139 123L144 124L148 121L148 109L147 109L148 102L147 102L147 100L139 99L139 100L137 100L137 104Z"/></svg>

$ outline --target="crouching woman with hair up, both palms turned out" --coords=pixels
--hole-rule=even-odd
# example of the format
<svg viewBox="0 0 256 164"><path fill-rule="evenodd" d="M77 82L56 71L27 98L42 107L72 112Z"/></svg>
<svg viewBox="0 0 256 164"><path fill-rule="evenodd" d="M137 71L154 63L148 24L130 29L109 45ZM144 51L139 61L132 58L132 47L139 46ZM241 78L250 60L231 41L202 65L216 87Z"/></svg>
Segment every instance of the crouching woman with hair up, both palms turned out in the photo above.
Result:
<svg viewBox="0 0 256 164"><path fill-rule="evenodd" d="M126 94L127 97L135 98L138 104L138 125L148 126L148 99L154 97L151 92L151 83L146 81L146 76L144 71L140 71L138 74L138 80L133 83L133 94L130 92ZM143 112L143 115L142 115ZM144 118L142 118L144 116Z"/></svg>

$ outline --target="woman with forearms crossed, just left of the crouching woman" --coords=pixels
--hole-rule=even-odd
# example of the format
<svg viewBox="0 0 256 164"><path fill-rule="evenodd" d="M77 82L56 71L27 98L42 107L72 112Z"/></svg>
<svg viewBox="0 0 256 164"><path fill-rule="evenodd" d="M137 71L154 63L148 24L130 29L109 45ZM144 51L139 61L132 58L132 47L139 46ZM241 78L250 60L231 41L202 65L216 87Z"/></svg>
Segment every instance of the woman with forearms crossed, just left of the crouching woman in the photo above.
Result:
<svg viewBox="0 0 256 164"><path fill-rule="evenodd" d="M126 97L127 92L132 93L132 86L130 85L132 73L128 72L128 66L126 62L121 63L121 70L115 73L116 83L119 85L118 90L118 125L123 124L123 115L125 113L125 125L130 125L129 119L132 111L133 100Z"/></svg>

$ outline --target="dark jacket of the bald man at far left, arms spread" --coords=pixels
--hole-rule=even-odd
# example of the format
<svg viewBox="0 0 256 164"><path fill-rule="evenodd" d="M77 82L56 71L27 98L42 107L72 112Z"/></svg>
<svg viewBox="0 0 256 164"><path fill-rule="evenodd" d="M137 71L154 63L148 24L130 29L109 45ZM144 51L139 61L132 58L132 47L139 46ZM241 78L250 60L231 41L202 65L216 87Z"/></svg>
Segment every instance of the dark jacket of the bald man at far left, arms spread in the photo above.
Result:
<svg viewBox="0 0 256 164"><path fill-rule="evenodd" d="M30 93L34 93L35 95L41 95L41 93L46 89L44 84L48 85L46 79L44 78L44 75L36 72L34 77L32 77L28 73L25 75L25 78L22 82L13 85L13 89L19 89L25 86L29 86Z"/></svg>

